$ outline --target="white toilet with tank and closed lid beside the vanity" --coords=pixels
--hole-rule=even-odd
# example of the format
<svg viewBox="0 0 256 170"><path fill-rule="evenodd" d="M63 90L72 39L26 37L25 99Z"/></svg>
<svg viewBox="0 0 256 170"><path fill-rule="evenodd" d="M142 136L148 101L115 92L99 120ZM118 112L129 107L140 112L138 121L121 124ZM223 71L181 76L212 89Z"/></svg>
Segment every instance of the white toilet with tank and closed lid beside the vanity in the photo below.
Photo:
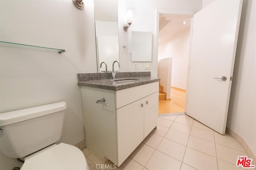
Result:
<svg viewBox="0 0 256 170"><path fill-rule="evenodd" d="M24 158L21 170L89 170L83 152L60 140L67 105L58 102L0 114L0 150Z"/></svg>

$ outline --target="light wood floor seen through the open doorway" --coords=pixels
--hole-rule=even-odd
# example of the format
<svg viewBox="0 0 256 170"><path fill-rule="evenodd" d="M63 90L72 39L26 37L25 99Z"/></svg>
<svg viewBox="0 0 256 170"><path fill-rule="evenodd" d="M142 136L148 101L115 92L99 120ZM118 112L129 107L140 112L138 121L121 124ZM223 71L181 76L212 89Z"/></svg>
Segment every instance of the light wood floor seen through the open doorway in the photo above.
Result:
<svg viewBox="0 0 256 170"><path fill-rule="evenodd" d="M171 88L171 100L159 100L158 114L182 113L185 111L186 91Z"/></svg>

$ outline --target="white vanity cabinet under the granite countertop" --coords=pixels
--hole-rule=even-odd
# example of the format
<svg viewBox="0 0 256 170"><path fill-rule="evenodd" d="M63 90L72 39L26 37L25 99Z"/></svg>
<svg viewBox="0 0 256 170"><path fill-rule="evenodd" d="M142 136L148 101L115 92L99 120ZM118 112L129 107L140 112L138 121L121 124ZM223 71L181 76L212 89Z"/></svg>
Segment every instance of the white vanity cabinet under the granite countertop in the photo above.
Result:
<svg viewBox="0 0 256 170"><path fill-rule="evenodd" d="M158 82L113 91L81 86L86 147L120 166L158 123ZM96 104L105 98L105 103Z"/></svg>

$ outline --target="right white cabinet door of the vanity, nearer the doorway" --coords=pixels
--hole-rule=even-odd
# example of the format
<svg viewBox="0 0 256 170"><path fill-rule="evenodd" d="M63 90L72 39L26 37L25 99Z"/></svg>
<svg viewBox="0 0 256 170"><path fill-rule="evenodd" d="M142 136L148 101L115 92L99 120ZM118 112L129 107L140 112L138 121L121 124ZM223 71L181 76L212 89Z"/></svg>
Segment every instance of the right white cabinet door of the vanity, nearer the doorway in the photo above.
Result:
<svg viewBox="0 0 256 170"><path fill-rule="evenodd" d="M144 139L158 123L158 92L144 98Z"/></svg>

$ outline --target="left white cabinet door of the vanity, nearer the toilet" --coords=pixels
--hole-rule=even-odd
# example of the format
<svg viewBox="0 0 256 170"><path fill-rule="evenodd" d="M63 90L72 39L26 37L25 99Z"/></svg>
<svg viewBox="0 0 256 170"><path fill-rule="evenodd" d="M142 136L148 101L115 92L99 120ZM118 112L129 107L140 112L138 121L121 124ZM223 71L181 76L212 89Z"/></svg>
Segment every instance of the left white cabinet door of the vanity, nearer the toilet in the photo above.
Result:
<svg viewBox="0 0 256 170"><path fill-rule="evenodd" d="M120 166L144 139L144 99L116 109L118 164Z"/></svg>

